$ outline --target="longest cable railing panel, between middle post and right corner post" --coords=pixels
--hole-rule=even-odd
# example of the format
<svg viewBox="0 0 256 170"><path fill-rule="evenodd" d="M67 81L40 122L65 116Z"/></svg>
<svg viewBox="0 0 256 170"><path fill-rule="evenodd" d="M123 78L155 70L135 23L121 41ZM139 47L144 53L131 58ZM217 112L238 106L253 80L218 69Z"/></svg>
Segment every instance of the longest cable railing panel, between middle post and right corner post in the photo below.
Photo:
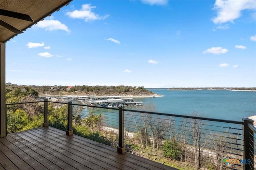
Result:
<svg viewBox="0 0 256 170"><path fill-rule="evenodd" d="M242 169L223 160L243 158L243 122L124 110L126 131L136 136L126 139L130 152L181 169Z"/></svg>

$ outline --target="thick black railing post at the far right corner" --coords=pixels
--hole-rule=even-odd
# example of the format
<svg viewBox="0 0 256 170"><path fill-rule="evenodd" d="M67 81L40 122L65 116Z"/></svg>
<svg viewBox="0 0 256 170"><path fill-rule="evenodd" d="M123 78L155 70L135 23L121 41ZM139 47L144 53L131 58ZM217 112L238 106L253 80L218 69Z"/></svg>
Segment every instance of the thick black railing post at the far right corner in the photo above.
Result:
<svg viewBox="0 0 256 170"><path fill-rule="evenodd" d="M253 125L252 119L242 119L244 121L243 141L244 141L244 170L249 170L254 167L254 132L248 127L248 124ZM250 159L250 162L248 161Z"/></svg>

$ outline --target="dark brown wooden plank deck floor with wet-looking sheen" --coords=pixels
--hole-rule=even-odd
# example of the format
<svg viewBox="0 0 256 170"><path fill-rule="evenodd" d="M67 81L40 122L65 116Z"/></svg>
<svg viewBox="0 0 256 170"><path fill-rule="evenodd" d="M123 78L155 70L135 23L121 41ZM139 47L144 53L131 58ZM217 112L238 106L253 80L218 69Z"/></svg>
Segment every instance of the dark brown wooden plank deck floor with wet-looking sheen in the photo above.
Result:
<svg viewBox="0 0 256 170"><path fill-rule="evenodd" d="M0 150L0 170L176 170L53 127L8 134Z"/></svg>

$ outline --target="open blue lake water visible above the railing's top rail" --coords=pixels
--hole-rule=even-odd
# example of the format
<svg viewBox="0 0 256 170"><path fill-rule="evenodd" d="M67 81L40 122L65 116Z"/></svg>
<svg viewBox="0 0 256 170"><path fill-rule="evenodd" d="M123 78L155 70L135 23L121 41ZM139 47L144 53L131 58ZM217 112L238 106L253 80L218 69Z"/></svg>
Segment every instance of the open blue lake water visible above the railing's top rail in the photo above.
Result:
<svg viewBox="0 0 256 170"><path fill-rule="evenodd" d="M256 115L256 92L230 90L148 89L164 97L136 98L143 104L153 103L156 112L186 115L198 112L202 117L242 121Z"/></svg>

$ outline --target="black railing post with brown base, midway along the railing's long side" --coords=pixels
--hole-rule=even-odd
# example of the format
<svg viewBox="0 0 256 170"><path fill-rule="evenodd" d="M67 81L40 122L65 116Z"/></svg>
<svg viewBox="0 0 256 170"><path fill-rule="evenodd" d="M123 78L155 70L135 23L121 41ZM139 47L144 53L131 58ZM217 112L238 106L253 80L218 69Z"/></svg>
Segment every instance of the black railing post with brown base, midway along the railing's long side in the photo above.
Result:
<svg viewBox="0 0 256 170"><path fill-rule="evenodd" d="M119 154L124 154L126 151L125 146L124 146L124 107L118 107L118 129L119 129L119 145L117 147L117 152Z"/></svg>

